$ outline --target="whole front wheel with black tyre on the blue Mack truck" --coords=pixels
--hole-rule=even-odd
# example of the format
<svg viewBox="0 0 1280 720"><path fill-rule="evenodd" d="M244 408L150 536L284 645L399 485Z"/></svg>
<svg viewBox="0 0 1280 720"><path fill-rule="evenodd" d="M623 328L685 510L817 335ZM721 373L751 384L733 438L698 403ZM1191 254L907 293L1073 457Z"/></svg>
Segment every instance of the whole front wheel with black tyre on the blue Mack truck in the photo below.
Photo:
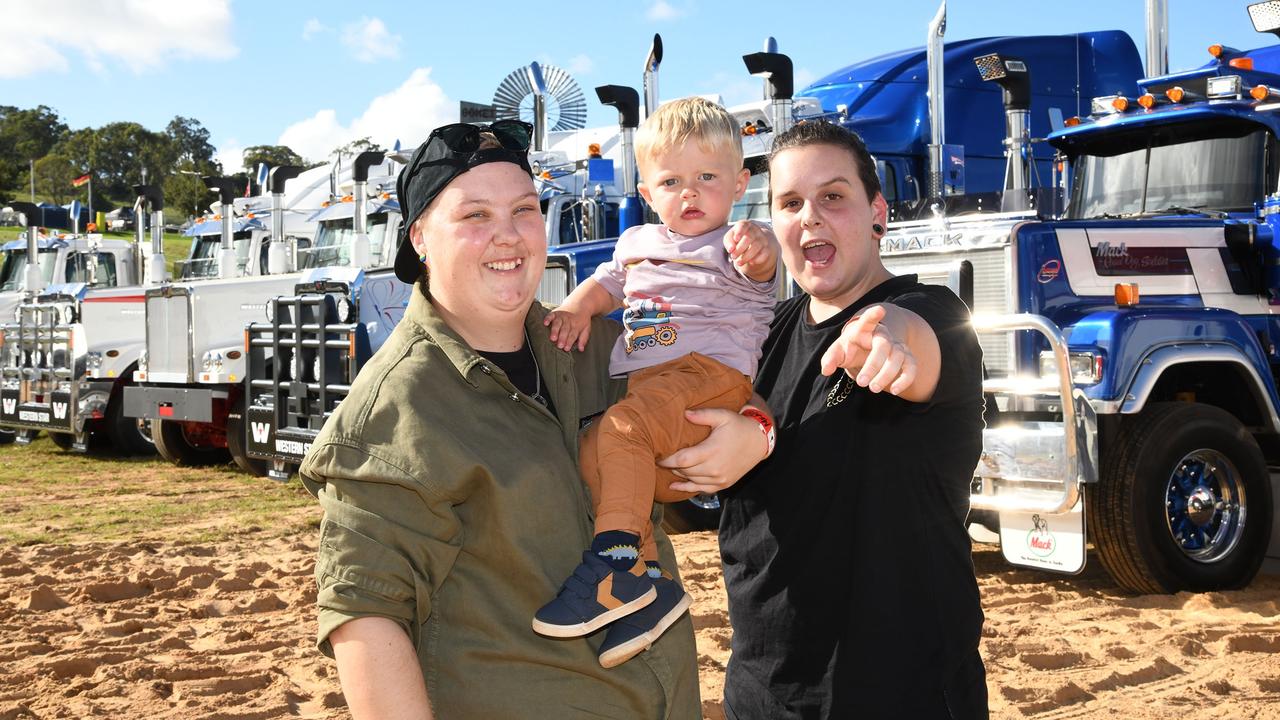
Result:
<svg viewBox="0 0 1280 720"><path fill-rule="evenodd" d="M1098 556L1134 592L1244 587L1271 538L1262 451L1239 420L1211 405L1149 405L1121 428L1088 492Z"/></svg>

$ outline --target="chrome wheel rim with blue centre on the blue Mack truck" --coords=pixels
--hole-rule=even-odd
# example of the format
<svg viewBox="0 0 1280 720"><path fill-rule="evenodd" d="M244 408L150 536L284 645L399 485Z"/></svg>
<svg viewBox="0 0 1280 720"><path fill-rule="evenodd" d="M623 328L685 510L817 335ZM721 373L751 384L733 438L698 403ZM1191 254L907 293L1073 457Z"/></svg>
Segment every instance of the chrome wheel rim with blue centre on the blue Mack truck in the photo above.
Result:
<svg viewBox="0 0 1280 720"><path fill-rule="evenodd" d="M1217 562L1244 536L1244 484L1221 452L1193 450L1175 465L1165 484L1165 527L1184 556Z"/></svg>

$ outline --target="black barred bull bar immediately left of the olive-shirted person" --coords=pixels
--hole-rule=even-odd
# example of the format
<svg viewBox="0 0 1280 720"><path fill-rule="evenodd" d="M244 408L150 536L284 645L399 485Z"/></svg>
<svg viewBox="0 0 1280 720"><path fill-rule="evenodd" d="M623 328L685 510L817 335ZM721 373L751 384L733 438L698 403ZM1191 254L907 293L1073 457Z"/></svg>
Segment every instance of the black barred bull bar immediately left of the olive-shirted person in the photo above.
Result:
<svg viewBox="0 0 1280 720"><path fill-rule="evenodd" d="M294 292L269 300L271 320L246 329L251 457L301 461L371 355L367 329L346 284Z"/></svg>

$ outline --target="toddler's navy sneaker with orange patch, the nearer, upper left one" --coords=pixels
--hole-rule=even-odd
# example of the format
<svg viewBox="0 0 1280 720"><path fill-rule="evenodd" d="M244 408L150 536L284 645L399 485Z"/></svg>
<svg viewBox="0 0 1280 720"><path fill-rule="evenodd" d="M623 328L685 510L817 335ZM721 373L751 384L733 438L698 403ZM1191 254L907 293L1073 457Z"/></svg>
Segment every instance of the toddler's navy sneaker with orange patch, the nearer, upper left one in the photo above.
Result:
<svg viewBox="0 0 1280 720"><path fill-rule="evenodd" d="M657 597L644 562L636 561L631 570L614 570L603 557L586 551L556 600L534 614L534 630L553 638L589 635Z"/></svg>

